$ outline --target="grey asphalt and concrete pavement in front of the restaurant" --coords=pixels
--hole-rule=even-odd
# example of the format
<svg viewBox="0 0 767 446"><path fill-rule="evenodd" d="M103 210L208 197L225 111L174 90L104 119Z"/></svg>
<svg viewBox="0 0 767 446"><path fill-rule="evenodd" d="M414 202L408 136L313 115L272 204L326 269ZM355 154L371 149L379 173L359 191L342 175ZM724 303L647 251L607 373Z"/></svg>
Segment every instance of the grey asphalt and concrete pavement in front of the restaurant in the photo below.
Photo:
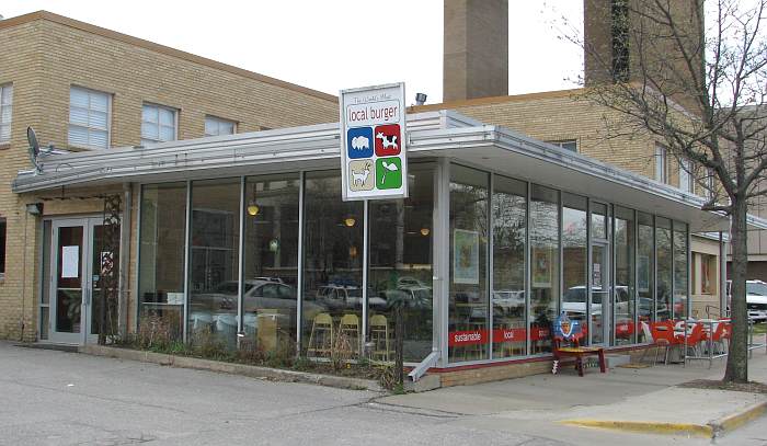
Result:
<svg viewBox="0 0 767 446"><path fill-rule="evenodd" d="M752 369L755 378L767 378L764 352L755 355ZM646 398L689 377L717 375L718 368L709 370L696 364L685 369L659 366L614 369L607 375L588 371L584 378L541 375L382 397L0 342L0 445L711 443L574 427L552 420L569 410L609 410L613 404ZM716 443L767 445L765 420Z"/></svg>

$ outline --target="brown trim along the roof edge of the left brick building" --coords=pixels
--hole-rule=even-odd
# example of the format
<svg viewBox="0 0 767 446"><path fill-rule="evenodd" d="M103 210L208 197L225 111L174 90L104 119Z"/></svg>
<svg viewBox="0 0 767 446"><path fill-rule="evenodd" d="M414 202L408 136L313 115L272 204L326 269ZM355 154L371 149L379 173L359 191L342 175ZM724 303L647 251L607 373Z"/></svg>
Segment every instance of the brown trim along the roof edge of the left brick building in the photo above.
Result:
<svg viewBox="0 0 767 446"><path fill-rule="evenodd" d="M90 24L87 22L81 22L79 20L70 19L70 18L67 18L65 15L59 15L59 14L56 14L56 13L53 13L49 11L41 10L41 11L30 12L27 14L16 15L14 18L4 19L4 20L0 21L0 30L22 25L22 24L34 22L37 20L45 20L48 22L64 25L64 26L69 26L69 27L76 28L76 30L84 31L87 33L100 35L102 37L111 38L114 41L119 41L119 42L123 42L126 44L135 45L135 46L141 47L141 48L145 48L145 49L160 53L160 54L163 54L165 56L171 56L171 57L175 57L175 58L186 60L190 62L204 65L204 66L209 67L209 68L218 69L221 71L227 71L227 72L230 72L232 75L241 76L243 78L253 79L253 80L256 80L260 82L270 83L270 84L275 85L275 87L284 88L287 90L293 90L295 92L308 94L310 96L314 96L314 98L322 99L325 101L335 102L335 103L339 102L337 96L334 96L334 95L328 94L328 93L323 93L321 91L313 90L313 89L310 89L308 87L301 87L301 85L296 84L296 83L287 82L287 81L284 81L284 80L277 79L277 78L272 78L270 76L261 75L261 73L257 73L255 71L245 70L244 68L234 67L233 65L219 62L217 60L209 59L207 57L197 56L197 55L192 54L192 53L187 53L187 52L184 52L181 49L172 48L170 46L157 44L154 42L147 41L144 38L134 37L134 36L128 35L128 34L119 33L117 31L108 30L108 28L93 25L93 24Z"/></svg>

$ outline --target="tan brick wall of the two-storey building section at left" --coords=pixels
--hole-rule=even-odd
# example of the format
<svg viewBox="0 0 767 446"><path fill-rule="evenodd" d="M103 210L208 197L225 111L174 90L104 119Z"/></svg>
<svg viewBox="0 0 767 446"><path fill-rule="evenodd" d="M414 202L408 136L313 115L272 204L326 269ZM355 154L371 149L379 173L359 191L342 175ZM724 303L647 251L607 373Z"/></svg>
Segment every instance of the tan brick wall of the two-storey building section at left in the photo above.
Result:
<svg viewBox="0 0 767 446"><path fill-rule="evenodd" d="M112 147L140 144L145 102L179 111L179 139L204 136L206 115L237 122L238 133L337 119L335 96L47 12L0 22L0 85L13 84L11 141L0 146L0 217L8 225L0 339L34 340L37 329L41 219L26 214L25 204L45 198L46 215L103 209L92 198L105 193L101 188L10 191L16 172L31 167L27 126L43 146L82 150L68 146L70 87L112 96ZM135 265L135 239L131 244Z"/></svg>

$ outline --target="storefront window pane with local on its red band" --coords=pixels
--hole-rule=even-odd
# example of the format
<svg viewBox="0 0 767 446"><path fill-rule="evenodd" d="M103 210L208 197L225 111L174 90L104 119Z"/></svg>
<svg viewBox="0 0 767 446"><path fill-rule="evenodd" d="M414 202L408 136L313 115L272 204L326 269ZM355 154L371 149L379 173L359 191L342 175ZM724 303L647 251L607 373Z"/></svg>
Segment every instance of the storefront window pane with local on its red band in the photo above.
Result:
<svg viewBox="0 0 767 446"><path fill-rule="evenodd" d="M493 179L493 357L526 354L527 184Z"/></svg>

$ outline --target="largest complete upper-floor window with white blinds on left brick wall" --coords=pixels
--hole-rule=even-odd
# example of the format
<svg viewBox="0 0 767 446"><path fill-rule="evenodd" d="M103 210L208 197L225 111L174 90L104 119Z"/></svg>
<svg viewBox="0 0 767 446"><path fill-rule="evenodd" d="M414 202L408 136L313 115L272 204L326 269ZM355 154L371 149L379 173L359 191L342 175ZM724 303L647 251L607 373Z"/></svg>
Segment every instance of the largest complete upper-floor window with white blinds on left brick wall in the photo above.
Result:
<svg viewBox="0 0 767 446"><path fill-rule="evenodd" d="M111 113L110 93L81 87L70 88L69 145L88 149L108 148Z"/></svg>

